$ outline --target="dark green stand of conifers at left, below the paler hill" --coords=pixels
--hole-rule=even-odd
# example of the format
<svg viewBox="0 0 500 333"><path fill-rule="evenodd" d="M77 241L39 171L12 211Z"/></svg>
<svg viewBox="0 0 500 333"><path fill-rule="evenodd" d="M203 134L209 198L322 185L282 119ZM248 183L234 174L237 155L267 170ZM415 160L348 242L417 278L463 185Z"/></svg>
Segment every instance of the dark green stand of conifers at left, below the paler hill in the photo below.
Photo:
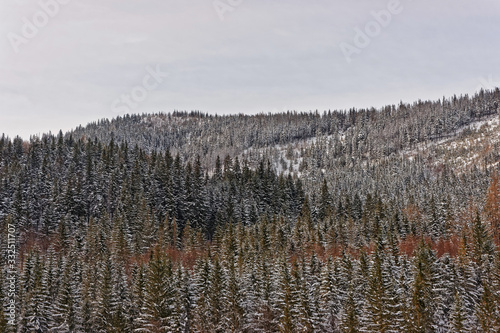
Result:
<svg viewBox="0 0 500 333"><path fill-rule="evenodd" d="M168 150L148 155L113 141L102 145L61 134L29 144L2 139L1 147L6 174L0 217L10 216L23 236L31 231L37 239L60 229L70 235L109 217L123 219L129 237L149 248L166 214L180 231L190 224L211 238L223 222L294 217L304 200L300 179L277 175L264 160L253 170L238 158L217 158L210 176L199 159L192 165Z"/></svg>

